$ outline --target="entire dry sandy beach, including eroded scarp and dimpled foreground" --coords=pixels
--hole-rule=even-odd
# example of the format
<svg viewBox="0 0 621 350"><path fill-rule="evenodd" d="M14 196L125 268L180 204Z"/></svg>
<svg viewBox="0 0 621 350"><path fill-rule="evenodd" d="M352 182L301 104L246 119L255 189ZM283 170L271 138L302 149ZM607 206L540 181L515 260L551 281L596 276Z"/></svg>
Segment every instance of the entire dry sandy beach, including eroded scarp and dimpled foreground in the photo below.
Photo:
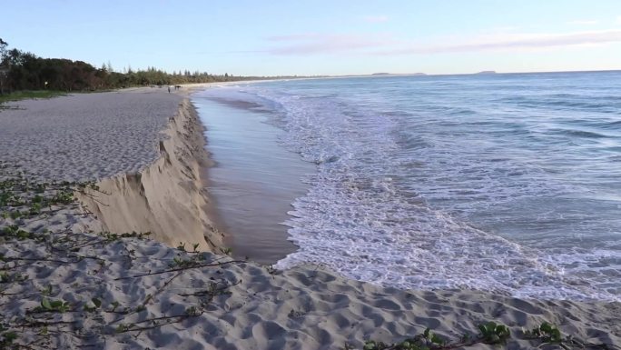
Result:
<svg viewBox="0 0 621 350"><path fill-rule="evenodd" d="M621 346L618 302L401 290L320 264L277 270L223 254L203 173L209 124L182 91L67 95L0 110L0 179L5 193L22 196L5 201L0 218L0 323L15 348L362 348L427 328L459 343L478 339L489 321L510 329L506 348L536 347L521 330L543 322ZM69 189L76 201L61 200ZM49 207L33 207L45 198ZM10 215L20 208L28 214ZM494 348L483 343L467 347Z"/></svg>

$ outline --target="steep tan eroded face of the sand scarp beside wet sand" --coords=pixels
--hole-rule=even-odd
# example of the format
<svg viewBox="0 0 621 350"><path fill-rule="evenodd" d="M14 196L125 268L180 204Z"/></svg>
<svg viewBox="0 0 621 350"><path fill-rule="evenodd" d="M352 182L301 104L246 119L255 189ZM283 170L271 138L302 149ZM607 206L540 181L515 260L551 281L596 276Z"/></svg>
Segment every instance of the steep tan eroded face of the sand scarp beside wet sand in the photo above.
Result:
<svg viewBox="0 0 621 350"><path fill-rule="evenodd" d="M187 98L164 128L159 153L140 172L105 178L78 199L106 231L151 232L167 245L219 252L223 235L207 215L211 204L202 184L208 163L203 128Z"/></svg>

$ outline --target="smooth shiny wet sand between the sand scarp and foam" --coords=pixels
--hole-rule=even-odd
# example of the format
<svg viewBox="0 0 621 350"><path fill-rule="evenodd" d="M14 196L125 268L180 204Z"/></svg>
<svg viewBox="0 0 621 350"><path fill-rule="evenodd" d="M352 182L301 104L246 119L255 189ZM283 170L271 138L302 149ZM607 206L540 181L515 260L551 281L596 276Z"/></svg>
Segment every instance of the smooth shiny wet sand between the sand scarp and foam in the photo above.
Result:
<svg viewBox="0 0 621 350"><path fill-rule="evenodd" d="M259 105L193 95L206 131L213 165L208 169L216 225L237 257L274 264L295 251L282 225L291 202L304 195L303 175L314 165L278 145L282 131L269 125Z"/></svg>

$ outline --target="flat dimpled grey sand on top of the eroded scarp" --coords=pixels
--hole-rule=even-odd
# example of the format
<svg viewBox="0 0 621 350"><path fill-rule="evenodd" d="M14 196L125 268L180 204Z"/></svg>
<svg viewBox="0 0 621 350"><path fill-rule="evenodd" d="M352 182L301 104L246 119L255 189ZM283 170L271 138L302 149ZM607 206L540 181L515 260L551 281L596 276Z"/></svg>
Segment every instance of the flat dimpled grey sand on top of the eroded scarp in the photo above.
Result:
<svg viewBox="0 0 621 350"><path fill-rule="evenodd" d="M44 180L135 173L160 155L160 132L181 101L143 88L13 102L0 110L0 160Z"/></svg>

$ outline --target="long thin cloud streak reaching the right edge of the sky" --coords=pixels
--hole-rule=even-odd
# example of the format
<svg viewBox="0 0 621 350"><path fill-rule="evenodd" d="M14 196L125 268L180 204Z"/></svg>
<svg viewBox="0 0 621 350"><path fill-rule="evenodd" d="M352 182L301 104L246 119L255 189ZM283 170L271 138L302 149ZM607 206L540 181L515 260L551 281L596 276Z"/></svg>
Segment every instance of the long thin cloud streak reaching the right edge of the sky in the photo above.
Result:
<svg viewBox="0 0 621 350"><path fill-rule="evenodd" d="M438 54L503 49L532 49L571 45L595 45L621 42L621 30L585 31L567 34L483 35L440 41L438 44L409 45L378 52L380 55Z"/></svg>

